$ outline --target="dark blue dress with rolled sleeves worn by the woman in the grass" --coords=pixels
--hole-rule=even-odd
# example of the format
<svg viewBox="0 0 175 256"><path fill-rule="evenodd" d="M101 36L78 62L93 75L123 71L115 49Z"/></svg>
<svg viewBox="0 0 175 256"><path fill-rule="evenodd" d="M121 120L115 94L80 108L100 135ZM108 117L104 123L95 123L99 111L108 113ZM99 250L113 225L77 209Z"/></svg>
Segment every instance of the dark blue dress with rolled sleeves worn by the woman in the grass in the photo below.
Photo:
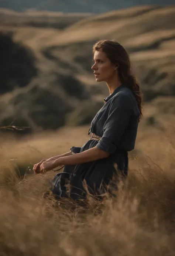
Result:
<svg viewBox="0 0 175 256"><path fill-rule="evenodd" d="M134 94L124 84L104 102L89 129L89 134L95 133L102 139L88 140L82 147L72 147L71 151L77 154L97 146L110 156L89 163L66 165L64 171L52 179L51 190L57 198L85 198L87 191L82 181L86 182L91 194L100 196L117 172L127 176L128 151L135 146L140 111Z"/></svg>

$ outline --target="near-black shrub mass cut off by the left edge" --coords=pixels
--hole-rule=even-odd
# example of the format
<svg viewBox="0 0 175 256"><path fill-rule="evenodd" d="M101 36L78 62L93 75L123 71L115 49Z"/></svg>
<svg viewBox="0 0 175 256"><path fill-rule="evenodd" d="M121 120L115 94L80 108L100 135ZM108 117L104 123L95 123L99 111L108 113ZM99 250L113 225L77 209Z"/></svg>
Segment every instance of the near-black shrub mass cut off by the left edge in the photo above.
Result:
<svg viewBox="0 0 175 256"><path fill-rule="evenodd" d="M0 33L0 94L28 85L37 75L35 57L30 49L13 41L12 34Z"/></svg>

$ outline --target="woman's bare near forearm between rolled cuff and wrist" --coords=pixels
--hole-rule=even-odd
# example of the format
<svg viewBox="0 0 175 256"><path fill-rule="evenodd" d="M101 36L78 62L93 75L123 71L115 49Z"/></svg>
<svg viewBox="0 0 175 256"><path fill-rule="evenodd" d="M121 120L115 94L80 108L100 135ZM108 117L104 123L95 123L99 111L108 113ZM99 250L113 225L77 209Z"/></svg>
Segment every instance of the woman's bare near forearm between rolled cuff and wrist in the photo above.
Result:
<svg viewBox="0 0 175 256"><path fill-rule="evenodd" d="M56 163L59 165L74 165L74 164L83 164L91 161L96 161L102 158L109 156L109 153L93 147L78 154L73 154L69 156L60 157L56 160Z"/></svg>

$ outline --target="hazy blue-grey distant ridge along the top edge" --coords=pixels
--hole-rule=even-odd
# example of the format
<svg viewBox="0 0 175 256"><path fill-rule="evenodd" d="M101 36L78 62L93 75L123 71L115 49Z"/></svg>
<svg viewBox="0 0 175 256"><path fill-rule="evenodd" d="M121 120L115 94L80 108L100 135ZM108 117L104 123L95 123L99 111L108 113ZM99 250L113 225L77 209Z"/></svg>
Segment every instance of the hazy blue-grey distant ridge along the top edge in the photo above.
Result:
<svg viewBox="0 0 175 256"><path fill-rule="evenodd" d="M174 0L1 0L0 7L9 8L16 11L24 11L26 9L32 10L46 10L46 11L59 11L68 13L102 13L121 8L128 8L142 4L174 4Z"/></svg>

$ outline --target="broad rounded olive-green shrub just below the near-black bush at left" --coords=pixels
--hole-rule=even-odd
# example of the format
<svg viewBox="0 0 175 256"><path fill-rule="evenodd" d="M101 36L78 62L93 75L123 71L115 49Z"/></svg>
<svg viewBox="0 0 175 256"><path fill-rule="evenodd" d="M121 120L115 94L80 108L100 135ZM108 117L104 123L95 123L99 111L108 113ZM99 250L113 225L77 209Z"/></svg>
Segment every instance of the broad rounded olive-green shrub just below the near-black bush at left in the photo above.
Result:
<svg viewBox="0 0 175 256"><path fill-rule="evenodd" d="M0 126L30 126L24 133L39 127L44 130L57 129L64 126L65 115L71 110L69 101L52 89L33 86L11 96L4 115L1 115Z"/></svg>

